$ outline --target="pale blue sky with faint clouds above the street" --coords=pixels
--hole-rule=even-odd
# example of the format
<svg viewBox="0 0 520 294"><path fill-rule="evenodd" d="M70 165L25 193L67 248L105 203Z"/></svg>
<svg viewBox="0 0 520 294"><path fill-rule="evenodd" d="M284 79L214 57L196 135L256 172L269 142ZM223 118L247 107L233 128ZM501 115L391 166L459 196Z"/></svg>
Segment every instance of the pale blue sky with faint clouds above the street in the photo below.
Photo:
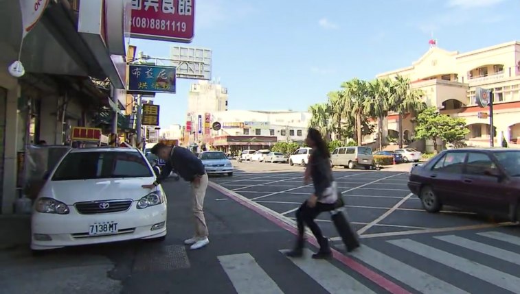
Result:
<svg viewBox="0 0 520 294"><path fill-rule="evenodd" d="M432 32L450 51L520 40L519 15L517 0L197 0L191 45L213 50L229 109L306 110L341 82L411 65ZM131 44L152 57L172 45ZM162 127L185 123L192 82L157 95Z"/></svg>

